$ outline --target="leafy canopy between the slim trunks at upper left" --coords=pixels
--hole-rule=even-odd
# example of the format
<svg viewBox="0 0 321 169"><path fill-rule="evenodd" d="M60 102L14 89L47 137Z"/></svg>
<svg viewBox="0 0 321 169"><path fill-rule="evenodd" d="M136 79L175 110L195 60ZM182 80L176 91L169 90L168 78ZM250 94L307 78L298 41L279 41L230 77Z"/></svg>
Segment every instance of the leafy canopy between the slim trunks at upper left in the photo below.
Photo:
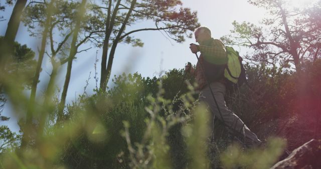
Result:
<svg viewBox="0 0 321 169"><path fill-rule="evenodd" d="M80 2L71 0L55 0L53 7L48 8L50 1L32 1L24 10L22 21L28 27L32 36L41 37L44 24L47 19L47 10L52 10L51 22L49 28L50 52L49 56L55 57L59 54L60 61L66 62L68 51L70 49L70 35L75 27L77 11ZM87 4L91 8L91 4ZM103 22L100 19L102 13L97 10L86 10L81 21L79 37L77 38L77 47L94 36L101 36Z"/></svg>

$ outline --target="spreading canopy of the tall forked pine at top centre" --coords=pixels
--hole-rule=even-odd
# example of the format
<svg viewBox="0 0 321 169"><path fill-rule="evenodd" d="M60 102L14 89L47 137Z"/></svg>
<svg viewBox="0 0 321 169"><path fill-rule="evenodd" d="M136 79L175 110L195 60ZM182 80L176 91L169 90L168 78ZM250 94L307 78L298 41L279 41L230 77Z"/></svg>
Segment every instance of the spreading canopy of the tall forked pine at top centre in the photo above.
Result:
<svg viewBox="0 0 321 169"><path fill-rule="evenodd" d="M112 25L109 27L109 29L112 29L109 39L110 42L115 39L122 24L125 24L126 27L123 32L120 32L121 35L118 40L131 43L133 46L143 45L140 39L131 35L137 31L161 30L175 41L183 42L185 35L188 37L192 36L192 33L188 31L193 31L199 26L197 22L197 12L192 12L191 9L182 7L180 0L137 0L133 5L127 22L125 22L125 17L127 11L130 10L131 2L131 0L104 0L103 5L99 3L94 5L94 8L101 9L103 12L102 16L104 16L102 18L105 21L111 19L109 21L110 25ZM109 3L112 4L109 5ZM111 6L111 8L109 8L108 5ZM108 13L109 15L111 15L111 13L116 15L112 15L111 17L113 18L106 18ZM153 21L154 26L145 27L146 24L139 24L148 20ZM138 28L131 28L133 25ZM97 42L100 41L98 46L102 45L103 40L103 37L97 38Z"/></svg>

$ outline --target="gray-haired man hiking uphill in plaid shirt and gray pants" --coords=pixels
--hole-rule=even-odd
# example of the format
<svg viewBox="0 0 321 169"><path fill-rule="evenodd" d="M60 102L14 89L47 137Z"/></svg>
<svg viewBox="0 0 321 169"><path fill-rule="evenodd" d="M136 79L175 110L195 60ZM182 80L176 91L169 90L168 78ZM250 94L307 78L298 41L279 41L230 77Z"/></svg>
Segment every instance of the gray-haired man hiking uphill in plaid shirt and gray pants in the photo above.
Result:
<svg viewBox="0 0 321 169"><path fill-rule="evenodd" d="M211 36L211 30L208 27L201 26L196 28L195 39L197 44L191 44L190 49L193 53L201 52L199 57L199 61L196 64L196 69L187 65L185 67L185 71L190 70L190 73L196 76L196 81L198 82L198 90L200 90L200 101L205 102L209 109L211 110L211 128L214 125L214 116L218 117L221 121L225 123L233 132L238 135L242 135L245 137L245 143L249 145L257 145L260 144L261 141L257 138L257 136L244 124L244 122L233 112L231 111L225 104L224 95L226 92L225 87L225 77L223 72L220 70L222 65L227 63L227 55L225 50L225 45L219 39L214 39ZM204 59L206 61L204 61ZM207 62L212 62L212 66L219 67L217 69L216 78L209 79L209 69L207 69L204 65ZM224 70L224 68L223 68ZM205 72L204 72L205 71ZM210 83L210 87L208 86L208 82ZM215 103L213 95L211 93L211 89L214 93L215 99L219 106L220 111ZM223 120L222 120L223 118Z"/></svg>

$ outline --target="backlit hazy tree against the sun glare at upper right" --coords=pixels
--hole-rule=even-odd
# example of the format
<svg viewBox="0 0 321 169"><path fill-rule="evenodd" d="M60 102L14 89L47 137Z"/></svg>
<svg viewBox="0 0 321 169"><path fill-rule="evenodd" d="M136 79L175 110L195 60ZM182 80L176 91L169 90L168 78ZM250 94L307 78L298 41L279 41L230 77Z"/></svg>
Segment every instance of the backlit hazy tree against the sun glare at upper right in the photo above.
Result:
<svg viewBox="0 0 321 169"><path fill-rule="evenodd" d="M249 22L233 22L234 30L223 39L230 44L237 44L254 49L247 58L263 61L281 67L294 65L296 71L301 70L304 59L319 55L321 27L319 15L320 2L314 8L291 8L285 0L248 0L251 4L268 10L268 16L262 26ZM312 10L313 9L313 10Z"/></svg>

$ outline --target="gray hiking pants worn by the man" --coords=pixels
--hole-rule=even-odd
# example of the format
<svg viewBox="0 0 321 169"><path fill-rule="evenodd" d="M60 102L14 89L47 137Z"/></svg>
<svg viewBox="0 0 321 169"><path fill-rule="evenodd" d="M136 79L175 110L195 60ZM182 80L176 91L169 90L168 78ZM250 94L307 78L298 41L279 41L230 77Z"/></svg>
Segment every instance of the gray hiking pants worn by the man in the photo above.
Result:
<svg viewBox="0 0 321 169"><path fill-rule="evenodd" d="M242 135L245 137L246 144L260 144L261 141L257 138L257 136L244 124L244 122L232 111L230 110L225 103L224 95L225 95L225 85L221 82L212 82L211 88L214 93L215 99L220 108L221 114L218 111L214 98L211 94L210 88L207 86L201 90L200 93L200 101L205 102L209 109L211 110L211 130L214 126L214 117L216 116L221 121L228 125L232 132L237 132L238 135Z"/></svg>

